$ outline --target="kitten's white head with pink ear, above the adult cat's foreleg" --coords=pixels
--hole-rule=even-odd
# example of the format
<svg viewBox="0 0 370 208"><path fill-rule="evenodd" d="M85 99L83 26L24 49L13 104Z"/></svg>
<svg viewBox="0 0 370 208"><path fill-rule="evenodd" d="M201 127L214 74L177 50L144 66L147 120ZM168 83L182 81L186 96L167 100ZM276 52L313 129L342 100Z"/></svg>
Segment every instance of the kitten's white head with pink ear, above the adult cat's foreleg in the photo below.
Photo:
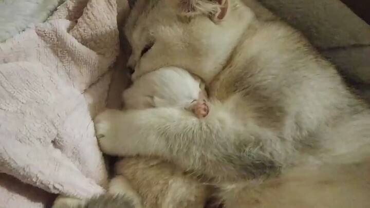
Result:
<svg viewBox="0 0 370 208"><path fill-rule="evenodd" d="M177 67L146 73L123 92L127 109L180 107L199 118L208 114L205 84L195 75Z"/></svg>

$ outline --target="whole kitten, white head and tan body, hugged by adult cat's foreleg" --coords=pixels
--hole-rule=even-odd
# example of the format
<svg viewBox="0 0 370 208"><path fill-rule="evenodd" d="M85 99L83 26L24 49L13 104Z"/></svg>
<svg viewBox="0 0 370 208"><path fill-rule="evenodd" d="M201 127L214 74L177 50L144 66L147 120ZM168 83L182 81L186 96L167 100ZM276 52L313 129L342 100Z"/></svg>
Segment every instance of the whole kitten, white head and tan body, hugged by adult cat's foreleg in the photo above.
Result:
<svg viewBox="0 0 370 208"><path fill-rule="evenodd" d="M206 98L204 83L186 70L164 67L146 73L123 93L125 108L177 107L200 115L197 106ZM183 173L174 164L144 157L123 158L114 180L126 180L142 198L143 206L203 208L207 186ZM117 186L118 187L118 186Z"/></svg>

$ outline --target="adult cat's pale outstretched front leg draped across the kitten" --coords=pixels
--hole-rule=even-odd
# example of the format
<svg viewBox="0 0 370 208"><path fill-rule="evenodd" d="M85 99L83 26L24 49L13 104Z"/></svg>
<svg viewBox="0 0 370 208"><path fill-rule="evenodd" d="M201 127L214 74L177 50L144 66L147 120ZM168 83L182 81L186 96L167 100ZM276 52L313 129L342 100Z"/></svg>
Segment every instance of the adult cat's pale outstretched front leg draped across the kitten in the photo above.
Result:
<svg viewBox="0 0 370 208"><path fill-rule="evenodd" d="M240 124L225 107L212 109L203 119L177 107L107 110L95 120L99 144L109 155L158 156L201 174L206 169L207 174L235 175L234 165L226 159L238 154L233 142L246 134L240 133ZM248 155L237 161L244 162L250 162Z"/></svg>

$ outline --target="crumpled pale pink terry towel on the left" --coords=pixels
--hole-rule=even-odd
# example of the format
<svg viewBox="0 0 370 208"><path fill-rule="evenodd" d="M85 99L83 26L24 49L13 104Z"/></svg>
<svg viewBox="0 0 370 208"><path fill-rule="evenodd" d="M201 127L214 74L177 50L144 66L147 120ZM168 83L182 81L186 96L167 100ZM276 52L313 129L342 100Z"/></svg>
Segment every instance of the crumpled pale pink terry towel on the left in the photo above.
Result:
<svg viewBox="0 0 370 208"><path fill-rule="evenodd" d="M26 193L45 192L17 180L79 198L104 192L91 118L105 107L118 52L116 0L69 0L0 44L0 173L14 178L0 177L0 207L43 206Z"/></svg>

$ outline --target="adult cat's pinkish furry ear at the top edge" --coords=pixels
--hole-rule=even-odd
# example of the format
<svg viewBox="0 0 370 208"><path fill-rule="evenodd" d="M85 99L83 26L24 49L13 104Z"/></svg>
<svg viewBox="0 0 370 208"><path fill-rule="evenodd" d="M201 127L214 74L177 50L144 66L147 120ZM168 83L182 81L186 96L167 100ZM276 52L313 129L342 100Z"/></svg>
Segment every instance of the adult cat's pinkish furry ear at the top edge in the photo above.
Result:
<svg viewBox="0 0 370 208"><path fill-rule="evenodd" d="M215 21L221 21L227 14L229 1L230 0L178 0L177 6L180 12L187 16L206 14L210 15Z"/></svg>

